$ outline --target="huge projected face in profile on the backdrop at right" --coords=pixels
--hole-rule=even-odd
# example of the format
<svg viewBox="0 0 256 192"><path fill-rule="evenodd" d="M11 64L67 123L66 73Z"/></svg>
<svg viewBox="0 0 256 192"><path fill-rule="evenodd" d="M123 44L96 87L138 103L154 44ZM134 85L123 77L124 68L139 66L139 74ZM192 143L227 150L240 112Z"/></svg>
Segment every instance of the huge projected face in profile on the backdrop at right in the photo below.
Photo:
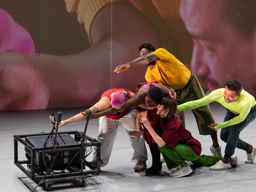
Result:
<svg viewBox="0 0 256 192"><path fill-rule="evenodd" d="M254 79L250 77L256 71L255 40L246 39L223 14L222 0L181 0L180 16L194 41L191 70L203 78L210 91L222 88L229 79L252 84L248 80ZM250 86L244 87L253 93Z"/></svg>

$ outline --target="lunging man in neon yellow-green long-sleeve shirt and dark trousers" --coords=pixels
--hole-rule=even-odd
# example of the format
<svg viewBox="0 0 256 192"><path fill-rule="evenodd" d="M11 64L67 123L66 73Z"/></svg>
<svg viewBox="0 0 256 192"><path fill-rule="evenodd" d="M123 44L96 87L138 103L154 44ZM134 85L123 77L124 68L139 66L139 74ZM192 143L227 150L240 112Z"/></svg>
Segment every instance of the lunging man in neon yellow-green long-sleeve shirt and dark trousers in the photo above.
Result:
<svg viewBox="0 0 256 192"><path fill-rule="evenodd" d="M223 123L208 125L213 130L221 129L220 138L227 143L224 157L211 166L211 170L230 169L230 157L235 153L235 148L246 151L247 159L244 163L253 163L256 147L239 139L240 132L256 117L255 98L244 91L242 84L237 80L229 80L225 88L212 91L202 99L189 101L178 105L178 110L191 110L205 104L217 101L227 110Z"/></svg>

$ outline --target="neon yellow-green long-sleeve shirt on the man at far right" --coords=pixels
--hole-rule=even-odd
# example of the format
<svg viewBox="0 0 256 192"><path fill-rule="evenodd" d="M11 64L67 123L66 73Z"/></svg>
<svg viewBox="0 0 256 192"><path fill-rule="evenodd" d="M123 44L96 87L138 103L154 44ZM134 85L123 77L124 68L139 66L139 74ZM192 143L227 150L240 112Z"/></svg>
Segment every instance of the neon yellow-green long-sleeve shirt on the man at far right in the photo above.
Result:
<svg viewBox="0 0 256 192"><path fill-rule="evenodd" d="M244 119L250 112L251 108L255 106L255 98L243 89L241 92L241 96L239 98L237 98L233 102L226 103L223 96L224 91L224 88L217 89L212 91L209 95L203 97L202 99L188 101L186 103L178 105L178 111L192 110L204 106L208 103L211 103L212 101L217 101L225 108L227 108L229 111L238 116L234 117L233 119L230 119L229 121L219 123L215 126L215 130L223 127L228 127L230 125L235 125L244 121Z"/></svg>

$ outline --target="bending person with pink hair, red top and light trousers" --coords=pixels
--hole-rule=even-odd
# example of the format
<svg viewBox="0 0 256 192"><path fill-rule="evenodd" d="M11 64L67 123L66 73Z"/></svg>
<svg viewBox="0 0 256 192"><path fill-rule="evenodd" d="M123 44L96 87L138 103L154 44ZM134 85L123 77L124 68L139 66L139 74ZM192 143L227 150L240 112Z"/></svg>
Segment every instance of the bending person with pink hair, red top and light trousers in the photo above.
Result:
<svg viewBox="0 0 256 192"><path fill-rule="evenodd" d="M97 113L108 108L123 108L127 100L135 94L126 89L110 89L101 95L100 101L93 105L90 110ZM100 142L100 158L103 161L101 167L108 164L113 144L116 138L117 129L122 125L130 138L130 143L134 150L132 161L137 162L134 166L136 171L143 171L147 168L146 161L148 160L147 149L142 128L136 127L136 108L131 107L123 109L119 113L101 116L99 119L99 134L97 141ZM86 119L84 112L77 114L67 120L61 121L60 126L67 123L82 121ZM59 127L60 127L59 126ZM93 158L88 162L88 167L96 169L96 148L94 148Z"/></svg>

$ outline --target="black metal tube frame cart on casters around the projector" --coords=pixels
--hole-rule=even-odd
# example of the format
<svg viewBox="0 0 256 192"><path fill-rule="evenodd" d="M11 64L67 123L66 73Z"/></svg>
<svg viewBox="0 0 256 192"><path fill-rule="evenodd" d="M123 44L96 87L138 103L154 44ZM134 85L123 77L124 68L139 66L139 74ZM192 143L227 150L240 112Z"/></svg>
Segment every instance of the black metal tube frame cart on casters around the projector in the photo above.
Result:
<svg viewBox="0 0 256 192"><path fill-rule="evenodd" d="M65 131L65 132L59 132L60 134L69 134L69 135L74 135L74 140L77 141L77 144L68 144L68 145L61 145L60 149L62 148L75 148L75 147L81 147L83 146L82 143L78 143L79 141L79 136L78 136L78 131ZM46 175L40 175L36 172L36 163L35 163L35 156L37 151L42 151L44 147L32 147L29 143L25 142L23 138L28 137L28 136L37 136L37 135L49 135L50 133L35 133L35 134L22 134L22 135L14 135L14 164L17 165L17 167L20 168L22 172L24 172L28 177L31 178L31 180L42 180L43 177L44 179L42 180L46 184L46 188L48 191L51 191L52 184L55 181L60 181L60 180L71 180L71 179L78 179L80 186L84 187L85 186L85 179L87 179L88 174L96 174L98 169L100 172L100 142L98 142L96 139L92 139L88 136L84 136L86 139L86 143L89 144L91 143L91 146L96 146L97 147L97 166L96 170L88 170L88 171L83 171L81 168L77 168L75 166L70 166L67 171L63 173L52 173L49 172ZM19 160L18 159L18 142L23 144L26 148L31 150L31 162L28 160ZM45 150L52 150L52 147L45 147ZM28 170L22 166L22 164L27 164Z"/></svg>

